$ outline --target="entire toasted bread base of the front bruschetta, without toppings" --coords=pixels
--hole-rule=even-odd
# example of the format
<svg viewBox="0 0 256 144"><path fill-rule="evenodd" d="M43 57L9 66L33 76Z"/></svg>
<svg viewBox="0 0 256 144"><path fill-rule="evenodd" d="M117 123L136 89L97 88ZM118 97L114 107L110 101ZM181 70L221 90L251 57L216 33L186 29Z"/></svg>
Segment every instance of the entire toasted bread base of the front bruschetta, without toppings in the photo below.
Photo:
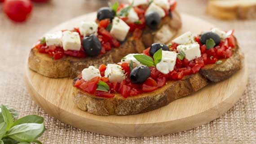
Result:
<svg viewBox="0 0 256 144"><path fill-rule="evenodd" d="M126 99L120 94L116 94L114 98L101 98L73 87L73 101L79 109L102 116L131 115L158 109L174 100L197 92L207 86L208 82L220 82L240 70L243 54L239 49L236 45L233 55L223 59L220 65L206 65L199 73L191 74L181 80L167 81L166 86L153 92Z"/></svg>

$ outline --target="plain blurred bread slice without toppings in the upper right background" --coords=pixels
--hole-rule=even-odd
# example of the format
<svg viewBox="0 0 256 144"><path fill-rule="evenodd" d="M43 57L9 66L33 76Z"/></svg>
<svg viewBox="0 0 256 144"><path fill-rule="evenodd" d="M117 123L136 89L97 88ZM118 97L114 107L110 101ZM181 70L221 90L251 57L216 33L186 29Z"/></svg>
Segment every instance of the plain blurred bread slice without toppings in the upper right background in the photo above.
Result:
<svg viewBox="0 0 256 144"><path fill-rule="evenodd" d="M210 0L207 12L220 19L255 19L256 0Z"/></svg>

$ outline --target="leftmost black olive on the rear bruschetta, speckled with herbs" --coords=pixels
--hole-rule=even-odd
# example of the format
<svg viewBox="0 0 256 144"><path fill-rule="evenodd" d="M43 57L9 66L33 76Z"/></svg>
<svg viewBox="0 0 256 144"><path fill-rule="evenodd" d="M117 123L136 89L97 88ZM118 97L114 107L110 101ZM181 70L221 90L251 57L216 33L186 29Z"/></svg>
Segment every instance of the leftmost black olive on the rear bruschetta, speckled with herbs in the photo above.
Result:
<svg viewBox="0 0 256 144"><path fill-rule="evenodd" d="M91 57L99 55L102 51L102 44L96 35L86 36L83 39L84 52Z"/></svg>

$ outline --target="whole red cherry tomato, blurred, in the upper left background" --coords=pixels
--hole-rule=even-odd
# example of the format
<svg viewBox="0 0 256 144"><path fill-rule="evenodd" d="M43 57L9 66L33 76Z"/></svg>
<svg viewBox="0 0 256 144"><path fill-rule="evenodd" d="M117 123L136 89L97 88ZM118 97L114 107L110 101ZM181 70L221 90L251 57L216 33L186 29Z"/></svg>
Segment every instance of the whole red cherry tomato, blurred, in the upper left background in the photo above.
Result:
<svg viewBox="0 0 256 144"><path fill-rule="evenodd" d="M25 21L32 9L30 0L5 0L3 5L4 13L14 22Z"/></svg>

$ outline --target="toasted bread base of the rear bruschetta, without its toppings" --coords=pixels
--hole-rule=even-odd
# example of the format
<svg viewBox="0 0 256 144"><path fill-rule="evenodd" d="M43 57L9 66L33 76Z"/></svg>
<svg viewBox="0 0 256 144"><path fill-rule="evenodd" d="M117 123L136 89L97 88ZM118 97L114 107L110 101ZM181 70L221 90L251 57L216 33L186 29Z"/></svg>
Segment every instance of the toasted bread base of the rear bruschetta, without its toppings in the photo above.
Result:
<svg viewBox="0 0 256 144"><path fill-rule="evenodd" d="M164 28L164 31L162 28ZM158 31L150 31L146 28L141 39L133 39L130 34L119 48L114 48L104 55L86 58L64 56L62 59L54 60L47 54L39 53L33 48L29 55L28 65L31 70L50 78L75 78L85 67L117 63L129 53L141 53L154 42L159 42L158 40L162 39L162 37L165 37L164 43L168 43L177 34L180 28L181 17L174 11L172 12L172 18L163 18ZM145 37L144 35L150 35L152 41L143 39Z"/></svg>

